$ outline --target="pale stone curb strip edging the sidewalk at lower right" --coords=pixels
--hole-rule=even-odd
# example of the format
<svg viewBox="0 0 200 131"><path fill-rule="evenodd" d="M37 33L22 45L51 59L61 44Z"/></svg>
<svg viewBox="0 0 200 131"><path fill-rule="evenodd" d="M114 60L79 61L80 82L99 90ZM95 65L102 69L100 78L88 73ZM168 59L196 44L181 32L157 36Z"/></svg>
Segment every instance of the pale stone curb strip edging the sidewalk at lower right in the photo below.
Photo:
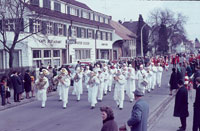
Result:
<svg viewBox="0 0 200 131"><path fill-rule="evenodd" d="M167 109L169 103L173 100L173 96L168 96L150 115L148 119L148 130L151 130L161 116L162 112Z"/></svg>

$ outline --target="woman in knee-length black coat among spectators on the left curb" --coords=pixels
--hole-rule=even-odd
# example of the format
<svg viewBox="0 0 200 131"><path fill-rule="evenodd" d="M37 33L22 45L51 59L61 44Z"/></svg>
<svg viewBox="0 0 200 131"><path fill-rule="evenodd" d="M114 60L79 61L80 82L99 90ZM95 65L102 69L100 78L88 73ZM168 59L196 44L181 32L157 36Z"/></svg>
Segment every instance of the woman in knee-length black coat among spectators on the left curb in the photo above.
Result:
<svg viewBox="0 0 200 131"><path fill-rule="evenodd" d="M24 89L26 91L26 98L29 99L29 93L31 91L31 76L29 70L27 70L24 74Z"/></svg>

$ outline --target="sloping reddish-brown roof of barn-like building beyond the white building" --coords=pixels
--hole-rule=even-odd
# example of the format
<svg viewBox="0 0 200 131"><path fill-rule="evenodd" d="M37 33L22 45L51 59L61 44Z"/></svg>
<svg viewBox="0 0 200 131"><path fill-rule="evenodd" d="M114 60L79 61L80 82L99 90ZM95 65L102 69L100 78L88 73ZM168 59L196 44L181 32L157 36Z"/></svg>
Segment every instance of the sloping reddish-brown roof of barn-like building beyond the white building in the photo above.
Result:
<svg viewBox="0 0 200 131"><path fill-rule="evenodd" d="M110 25L115 29L115 33L124 40L132 40L133 38L137 37L135 33L131 32L122 24L116 21L111 20Z"/></svg>

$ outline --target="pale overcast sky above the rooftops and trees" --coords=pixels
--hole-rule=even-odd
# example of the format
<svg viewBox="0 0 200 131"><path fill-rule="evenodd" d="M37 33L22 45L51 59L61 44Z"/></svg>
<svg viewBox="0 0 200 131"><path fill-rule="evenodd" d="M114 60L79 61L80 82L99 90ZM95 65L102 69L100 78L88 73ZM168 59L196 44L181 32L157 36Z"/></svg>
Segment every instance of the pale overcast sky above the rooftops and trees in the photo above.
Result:
<svg viewBox="0 0 200 131"><path fill-rule="evenodd" d="M147 0L77 0L92 10L110 15L115 21L137 21L142 14L145 22L155 9L170 9L187 17L185 30L190 40L200 40L200 1L147 1Z"/></svg>

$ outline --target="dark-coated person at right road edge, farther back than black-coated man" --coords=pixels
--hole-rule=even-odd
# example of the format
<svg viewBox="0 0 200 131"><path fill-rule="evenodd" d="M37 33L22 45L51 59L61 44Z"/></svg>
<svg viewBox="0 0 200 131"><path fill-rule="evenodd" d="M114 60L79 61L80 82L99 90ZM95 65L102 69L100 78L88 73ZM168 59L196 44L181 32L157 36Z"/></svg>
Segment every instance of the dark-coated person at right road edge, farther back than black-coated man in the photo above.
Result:
<svg viewBox="0 0 200 131"><path fill-rule="evenodd" d="M178 89L178 86L177 86L177 73L176 73L176 69L175 68L172 68L172 74L171 74L171 77L170 77L170 80L169 80L169 85L170 85L170 94L169 95L172 95L172 90Z"/></svg>

